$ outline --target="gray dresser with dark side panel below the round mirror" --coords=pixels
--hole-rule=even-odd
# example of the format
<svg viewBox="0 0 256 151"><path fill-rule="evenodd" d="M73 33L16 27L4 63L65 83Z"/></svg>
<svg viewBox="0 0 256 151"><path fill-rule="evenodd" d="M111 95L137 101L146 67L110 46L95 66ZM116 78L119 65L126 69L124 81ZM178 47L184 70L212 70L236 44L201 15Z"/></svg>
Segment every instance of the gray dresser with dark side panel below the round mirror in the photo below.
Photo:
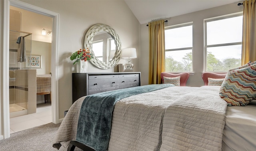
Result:
<svg viewBox="0 0 256 151"><path fill-rule="evenodd" d="M73 73L73 103L85 95L140 86L140 72Z"/></svg>

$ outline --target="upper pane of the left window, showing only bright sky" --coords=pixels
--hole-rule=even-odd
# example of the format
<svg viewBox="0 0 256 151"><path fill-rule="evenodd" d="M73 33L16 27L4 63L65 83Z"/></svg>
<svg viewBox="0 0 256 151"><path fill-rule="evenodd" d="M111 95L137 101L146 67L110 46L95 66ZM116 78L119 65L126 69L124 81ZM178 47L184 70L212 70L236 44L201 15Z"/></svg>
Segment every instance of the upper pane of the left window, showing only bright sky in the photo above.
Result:
<svg viewBox="0 0 256 151"><path fill-rule="evenodd" d="M165 49L192 47L192 25L165 30Z"/></svg>

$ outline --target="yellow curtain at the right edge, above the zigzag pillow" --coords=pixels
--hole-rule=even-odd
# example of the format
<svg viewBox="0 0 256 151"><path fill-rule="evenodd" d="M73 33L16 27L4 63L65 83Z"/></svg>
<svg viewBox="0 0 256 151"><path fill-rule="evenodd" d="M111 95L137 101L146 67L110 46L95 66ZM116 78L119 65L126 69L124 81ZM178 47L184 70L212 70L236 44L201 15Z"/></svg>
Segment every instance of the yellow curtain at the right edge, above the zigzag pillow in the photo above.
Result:
<svg viewBox="0 0 256 151"><path fill-rule="evenodd" d="M256 61L255 0L245 0L243 16L242 65Z"/></svg>

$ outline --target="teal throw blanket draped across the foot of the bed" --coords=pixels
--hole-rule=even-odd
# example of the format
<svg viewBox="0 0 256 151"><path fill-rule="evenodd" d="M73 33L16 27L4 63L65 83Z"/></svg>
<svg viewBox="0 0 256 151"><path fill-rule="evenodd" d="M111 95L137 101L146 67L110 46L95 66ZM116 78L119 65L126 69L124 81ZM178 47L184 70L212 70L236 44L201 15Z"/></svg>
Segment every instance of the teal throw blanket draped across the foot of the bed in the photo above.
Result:
<svg viewBox="0 0 256 151"><path fill-rule="evenodd" d="M174 86L172 84L152 84L126 89L118 89L88 95L80 110L76 141L96 151L107 151L110 139L112 112L116 101L136 95Z"/></svg>

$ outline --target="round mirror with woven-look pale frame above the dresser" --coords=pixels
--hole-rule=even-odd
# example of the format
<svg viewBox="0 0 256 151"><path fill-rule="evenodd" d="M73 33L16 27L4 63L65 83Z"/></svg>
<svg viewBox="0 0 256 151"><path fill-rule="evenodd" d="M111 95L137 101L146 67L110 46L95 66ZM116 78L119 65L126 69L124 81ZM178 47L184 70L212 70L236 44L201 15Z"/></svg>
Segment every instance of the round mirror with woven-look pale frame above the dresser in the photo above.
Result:
<svg viewBox="0 0 256 151"><path fill-rule="evenodd" d="M84 48L89 48L94 55L89 61L100 69L113 68L120 60L120 38L116 31L106 24L95 24L86 32Z"/></svg>

